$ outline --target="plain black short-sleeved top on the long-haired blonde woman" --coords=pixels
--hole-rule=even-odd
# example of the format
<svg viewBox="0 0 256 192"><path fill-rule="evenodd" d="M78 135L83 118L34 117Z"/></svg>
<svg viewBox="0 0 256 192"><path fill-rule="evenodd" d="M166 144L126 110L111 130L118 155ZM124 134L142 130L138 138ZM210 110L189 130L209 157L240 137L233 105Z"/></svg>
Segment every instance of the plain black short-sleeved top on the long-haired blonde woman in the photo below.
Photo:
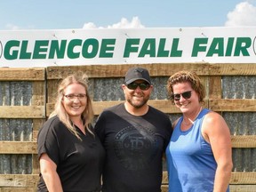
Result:
<svg viewBox="0 0 256 192"><path fill-rule="evenodd" d="M46 153L57 164L64 191L100 191L105 150L97 136L94 138L89 132L84 135L77 127L76 131L82 140L59 117L50 118L38 132L38 157ZM41 174L38 191L47 191Z"/></svg>

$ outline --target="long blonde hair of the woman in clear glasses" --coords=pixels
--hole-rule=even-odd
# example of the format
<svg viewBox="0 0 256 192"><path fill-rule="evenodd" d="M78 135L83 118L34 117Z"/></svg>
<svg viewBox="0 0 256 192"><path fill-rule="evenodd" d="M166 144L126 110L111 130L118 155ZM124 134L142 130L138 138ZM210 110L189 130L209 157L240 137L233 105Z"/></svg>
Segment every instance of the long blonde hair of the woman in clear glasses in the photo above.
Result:
<svg viewBox="0 0 256 192"><path fill-rule="evenodd" d="M64 90L68 87L69 84L81 84L82 86L84 86L87 94L87 104L81 117L82 119L84 119L84 129L94 135L92 130L90 129L90 124L92 124L94 113L92 109L92 100L90 98L90 95L88 94L88 77L85 74L81 74L78 72L77 74L67 76L60 82L58 86L55 107L49 118L51 118L52 116L58 116L60 118L60 121L67 126L68 130L75 134L79 140L81 140L79 133L76 132L75 125L72 124L67 111L62 105Z"/></svg>

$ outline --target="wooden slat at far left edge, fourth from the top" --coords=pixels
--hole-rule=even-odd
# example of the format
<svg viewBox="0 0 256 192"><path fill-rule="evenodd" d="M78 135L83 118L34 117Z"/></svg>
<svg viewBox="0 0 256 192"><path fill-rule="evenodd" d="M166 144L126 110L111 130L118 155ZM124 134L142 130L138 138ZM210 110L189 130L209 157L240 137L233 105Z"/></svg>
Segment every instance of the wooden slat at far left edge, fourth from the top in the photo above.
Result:
<svg viewBox="0 0 256 192"><path fill-rule="evenodd" d="M0 187L35 188L38 174L0 174Z"/></svg>

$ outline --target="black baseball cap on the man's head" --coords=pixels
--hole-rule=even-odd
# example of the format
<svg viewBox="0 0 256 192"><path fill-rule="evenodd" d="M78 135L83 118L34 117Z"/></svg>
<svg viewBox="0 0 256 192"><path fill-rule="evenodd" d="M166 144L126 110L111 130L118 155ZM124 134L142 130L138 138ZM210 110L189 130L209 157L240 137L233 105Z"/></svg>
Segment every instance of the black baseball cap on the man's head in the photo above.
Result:
<svg viewBox="0 0 256 192"><path fill-rule="evenodd" d="M151 84L150 76L146 68L129 68L124 77L124 84L131 84L136 80L144 80Z"/></svg>

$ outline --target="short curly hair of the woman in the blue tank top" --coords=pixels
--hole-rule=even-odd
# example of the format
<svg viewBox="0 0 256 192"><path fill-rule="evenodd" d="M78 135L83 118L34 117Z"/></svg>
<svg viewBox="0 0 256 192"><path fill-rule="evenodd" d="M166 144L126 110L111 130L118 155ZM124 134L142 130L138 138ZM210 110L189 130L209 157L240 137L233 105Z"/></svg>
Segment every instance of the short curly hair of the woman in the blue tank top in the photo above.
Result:
<svg viewBox="0 0 256 192"><path fill-rule="evenodd" d="M204 102L205 97L205 89L204 85L202 84L199 76L196 75L196 72L190 72L190 71L179 71L172 76L167 81L167 91L169 93L170 99L172 102L173 100L173 85L178 83L190 83L191 88L198 94L199 96L199 102Z"/></svg>

